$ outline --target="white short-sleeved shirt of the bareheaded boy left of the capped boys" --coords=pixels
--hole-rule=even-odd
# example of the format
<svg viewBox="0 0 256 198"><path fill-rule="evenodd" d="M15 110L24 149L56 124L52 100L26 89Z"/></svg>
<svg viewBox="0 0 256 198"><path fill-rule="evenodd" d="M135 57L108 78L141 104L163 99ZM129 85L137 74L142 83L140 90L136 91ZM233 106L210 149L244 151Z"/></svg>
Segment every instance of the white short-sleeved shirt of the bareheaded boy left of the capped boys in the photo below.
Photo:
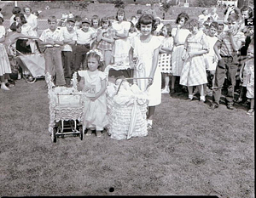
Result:
<svg viewBox="0 0 256 198"><path fill-rule="evenodd" d="M39 37L39 39L42 41L42 42L46 42L47 40L55 40L55 41L64 41L64 37L61 33L61 28L60 27L57 27L55 29L55 31L51 31L48 29L44 30L41 34L41 37ZM52 45L45 45L45 47L53 47ZM60 47L60 45L58 44L55 44L54 47Z"/></svg>

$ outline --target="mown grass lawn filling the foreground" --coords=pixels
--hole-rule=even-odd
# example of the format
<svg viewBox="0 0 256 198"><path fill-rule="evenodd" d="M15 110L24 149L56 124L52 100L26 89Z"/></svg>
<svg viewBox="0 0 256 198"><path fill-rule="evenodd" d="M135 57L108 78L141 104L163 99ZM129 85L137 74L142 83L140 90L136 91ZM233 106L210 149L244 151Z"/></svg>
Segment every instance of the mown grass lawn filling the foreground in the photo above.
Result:
<svg viewBox="0 0 256 198"><path fill-rule="evenodd" d="M254 197L254 119L242 105L209 111L210 101L164 94L147 137L115 140L104 133L54 144L44 79L19 80L0 97L1 196Z"/></svg>

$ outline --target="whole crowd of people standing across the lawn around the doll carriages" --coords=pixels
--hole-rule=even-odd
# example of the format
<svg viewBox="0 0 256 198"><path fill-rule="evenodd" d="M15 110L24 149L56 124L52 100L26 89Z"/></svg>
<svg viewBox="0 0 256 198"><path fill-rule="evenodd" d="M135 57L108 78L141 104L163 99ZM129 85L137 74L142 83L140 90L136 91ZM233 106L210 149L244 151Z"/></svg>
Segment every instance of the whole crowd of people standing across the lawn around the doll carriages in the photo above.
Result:
<svg viewBox="0 0 256 198"><path fill-rule="evenodd" d="M117 11L115 20L98 15L92 19L81 18L70 13L62 16L59 23L55 16L49 16L49 28L39 36L38 20L32 8L15 7L9 30L5 31L0 16L1 89L9 90L11 85L9 59L15 59L20 52L43 51L45 72L53 76L55 86L71 86L73 72L79 71L82 90L96 83L97 93L88 99L101 100L101 109L104 109L104 101L106 103L102 96L107 86L102 71L108 65L133 69L129 77L148 77L146 83L137 82L148 92L148 129L152 128L161 94L172 96L177 93L177 86L189 93L189 101L195 99L196 93L200 94L201 103L206 102L207 94L212 96L209 110L218 108L221 91L226 87L227 108L233 110L238 83L240 97L236 102L249 99L247 113L254 115L253 27L244 22L253 18L253 8L229 7L223 23L218 22L216 11L212 8L208 14L205 9L198 19L190 19L189 14L182 12L177 15L175 25L164 24L148 10L137 10L131 20L126 19L122 8ZM101 119L86 120L87 126L96 126L98 136L105 123L105 116L99 116L99 111L107 113L90 111L90 117Z"/></svg>

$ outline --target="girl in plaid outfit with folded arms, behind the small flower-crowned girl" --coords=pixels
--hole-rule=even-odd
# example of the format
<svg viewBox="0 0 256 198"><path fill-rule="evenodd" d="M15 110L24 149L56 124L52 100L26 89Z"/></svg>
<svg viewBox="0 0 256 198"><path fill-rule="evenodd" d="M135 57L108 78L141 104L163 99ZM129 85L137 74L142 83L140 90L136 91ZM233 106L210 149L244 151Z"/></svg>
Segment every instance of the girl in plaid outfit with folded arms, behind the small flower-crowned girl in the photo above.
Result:
<svg viewBox="0 0 256 198"><path fill-rule="evenodd" d="M114 31L111 21L107 17L102 18L101 25L97 31L97 49L103 55L105 66L102 68L102 71L104 71L105 67L111 63Z"/></svg>

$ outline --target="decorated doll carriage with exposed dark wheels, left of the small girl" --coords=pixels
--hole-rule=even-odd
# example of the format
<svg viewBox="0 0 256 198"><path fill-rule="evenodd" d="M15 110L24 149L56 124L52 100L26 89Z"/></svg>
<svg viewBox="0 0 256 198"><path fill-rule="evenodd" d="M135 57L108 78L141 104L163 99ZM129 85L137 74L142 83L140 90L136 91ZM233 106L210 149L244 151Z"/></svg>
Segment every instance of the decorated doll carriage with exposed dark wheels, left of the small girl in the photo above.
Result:
<svg viewBox="0 0 256 198"><path fill-rule="evenodd" d="M52 142L61 136L79 136L83 140L83 126L81 118L83 114L84 94L77 88L77 72L73 74L73 87L55 87L51 76L47 72L45 81L48 86L49 98L49 133Z"/></svg>

